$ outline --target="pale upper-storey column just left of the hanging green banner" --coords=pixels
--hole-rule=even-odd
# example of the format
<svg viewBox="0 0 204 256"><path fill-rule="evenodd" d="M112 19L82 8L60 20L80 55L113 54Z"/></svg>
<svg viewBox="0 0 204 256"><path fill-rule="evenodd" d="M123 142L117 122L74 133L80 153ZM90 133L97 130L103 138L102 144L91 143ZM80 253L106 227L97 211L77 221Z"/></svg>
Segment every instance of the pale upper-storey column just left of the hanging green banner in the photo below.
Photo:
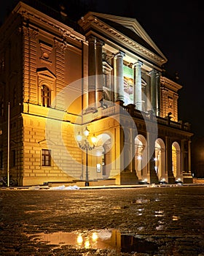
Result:
<svg viewBox="0 0 204 256"><path fill-rule="evenodd" d="M124 102L124 78L123 78L123 57L125 56L125 53L122 53L122 51L119 51L115 55L116 59L116 89L117 89L117 101Z"/></svg>

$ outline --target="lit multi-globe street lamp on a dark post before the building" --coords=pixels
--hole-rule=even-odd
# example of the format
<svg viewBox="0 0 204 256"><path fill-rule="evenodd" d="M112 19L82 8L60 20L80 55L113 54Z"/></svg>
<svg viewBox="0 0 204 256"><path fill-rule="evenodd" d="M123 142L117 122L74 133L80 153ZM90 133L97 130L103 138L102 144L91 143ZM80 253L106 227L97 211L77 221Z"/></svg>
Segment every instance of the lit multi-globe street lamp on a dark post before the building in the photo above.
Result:
<svg viewBox="0 0 204 256"><path fill-rule="evenodd" d="M95 135L93 135L93 137L91 138L91 142L93 143L93 146L91 146L89 141L87 140L88 135L90 133L90 131L87 129L87 127L86 127L86 129L83 133L84 133L85 137L83 138L83 136L79 132L78 135L76 136L76 140L79 144L79 148L82 148L83 150L86 151L86 181L85 181L85 187L88 187L89 186L88 151L95 148L96 137L95 137Z"/></svg>

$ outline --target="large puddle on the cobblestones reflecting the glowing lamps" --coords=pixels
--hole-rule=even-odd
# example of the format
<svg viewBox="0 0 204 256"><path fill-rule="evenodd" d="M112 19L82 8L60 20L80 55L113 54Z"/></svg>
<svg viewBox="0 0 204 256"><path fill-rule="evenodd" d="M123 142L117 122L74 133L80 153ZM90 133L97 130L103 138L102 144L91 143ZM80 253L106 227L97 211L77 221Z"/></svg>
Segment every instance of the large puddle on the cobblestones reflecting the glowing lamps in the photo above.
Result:
<svg viewBox="0 0 204 256"><path fill-rule="evenodd" d="M29 238L52 244L55 248L63 245L74 246L76 249L115 249L117 252L151 253L157 251L157 244L135 236L124 235L119 230L92 230L79 233L36 233Z"/></svg>

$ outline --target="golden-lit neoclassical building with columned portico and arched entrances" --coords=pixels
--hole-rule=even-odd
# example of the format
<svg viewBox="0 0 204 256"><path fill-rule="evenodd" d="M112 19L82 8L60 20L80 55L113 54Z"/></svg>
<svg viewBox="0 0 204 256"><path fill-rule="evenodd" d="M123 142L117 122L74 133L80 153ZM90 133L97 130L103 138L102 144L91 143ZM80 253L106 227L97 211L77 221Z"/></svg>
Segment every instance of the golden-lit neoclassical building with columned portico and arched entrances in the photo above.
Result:
<svg viewBox="0 0 204 256"><path fill-rule="evenodd" d="M165 77L167 59L137 20L51 17L19 2L1 26L0 176L80 184L88 165L93 184L192 182L181 85ZM76 141L85 127L97 138L88 163Z"/></svg>

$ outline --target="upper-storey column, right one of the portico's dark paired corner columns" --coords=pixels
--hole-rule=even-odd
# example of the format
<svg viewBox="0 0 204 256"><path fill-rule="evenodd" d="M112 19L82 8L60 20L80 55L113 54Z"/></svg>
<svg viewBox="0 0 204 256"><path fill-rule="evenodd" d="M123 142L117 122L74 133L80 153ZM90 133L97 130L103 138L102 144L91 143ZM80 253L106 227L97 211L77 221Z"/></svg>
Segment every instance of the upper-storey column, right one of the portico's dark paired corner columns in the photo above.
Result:
<svg viewBox="0 0 204 256"><path fill-rule="evenodd" d="M95 75L96 75L96 105L99 106L99 101L103 99L103 58L102 58L102 46L104 43L96 39L96 51L95 51Z"/></svg>

